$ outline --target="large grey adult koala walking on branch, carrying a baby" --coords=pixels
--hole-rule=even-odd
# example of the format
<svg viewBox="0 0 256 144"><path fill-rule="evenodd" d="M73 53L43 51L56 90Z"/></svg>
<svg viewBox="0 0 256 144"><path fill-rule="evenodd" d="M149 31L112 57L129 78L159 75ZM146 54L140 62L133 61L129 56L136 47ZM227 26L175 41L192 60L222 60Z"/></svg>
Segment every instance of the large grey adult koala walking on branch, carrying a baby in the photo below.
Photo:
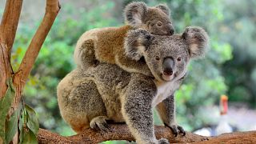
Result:
<svg viewBox="0 0 256 144"><path fill-rule="evenodd" d="M158 36L131 30L126 55L145 58L154 78L128 73L116 65L100 63L89 70L73 70L58 84L62 117L76 132L91 127L108 130L106 120L126 122L138 143L168 143L154 135L153 108L174 134L185 135L175 122L174 91L186 74L190 58L205 53L208 35L202 28L188 27L183 34Z"/></svg>

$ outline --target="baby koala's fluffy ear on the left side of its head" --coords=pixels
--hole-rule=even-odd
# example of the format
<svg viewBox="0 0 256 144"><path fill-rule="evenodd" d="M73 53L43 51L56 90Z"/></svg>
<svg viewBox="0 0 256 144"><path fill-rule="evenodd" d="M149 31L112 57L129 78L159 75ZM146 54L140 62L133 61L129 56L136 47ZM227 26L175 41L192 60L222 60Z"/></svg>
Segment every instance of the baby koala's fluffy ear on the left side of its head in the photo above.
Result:
<svg viewBox="0 0 256 144"><path fill-rule="evenodd" d="M146 10L146 3L131 2L124 10L126 22L128 22L128 24L131 26L140 26L142 24L142 18L145 17Z"/></svg>

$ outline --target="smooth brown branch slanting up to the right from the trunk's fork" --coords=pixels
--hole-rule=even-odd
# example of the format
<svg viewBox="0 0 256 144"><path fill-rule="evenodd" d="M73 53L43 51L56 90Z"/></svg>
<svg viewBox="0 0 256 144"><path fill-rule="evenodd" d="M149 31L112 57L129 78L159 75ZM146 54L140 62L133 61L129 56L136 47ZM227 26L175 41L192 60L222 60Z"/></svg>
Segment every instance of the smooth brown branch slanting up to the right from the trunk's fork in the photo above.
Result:
<svg viewBox="0 0 256 144"><path fill-rule="evenodd" d="M34 34L34 37L30 42L30 46L26 50L26 54L22 59L22 63L18 68L18 72L14 76L14 84L22 82L22 86L24 86L26 79L32 70L35 59L38 57L42 43L45 41L46 36L49 33L60 8L61 7L58 0L46 1L46 13L42 19L41 25L38 27L36 34Z"/></svg>

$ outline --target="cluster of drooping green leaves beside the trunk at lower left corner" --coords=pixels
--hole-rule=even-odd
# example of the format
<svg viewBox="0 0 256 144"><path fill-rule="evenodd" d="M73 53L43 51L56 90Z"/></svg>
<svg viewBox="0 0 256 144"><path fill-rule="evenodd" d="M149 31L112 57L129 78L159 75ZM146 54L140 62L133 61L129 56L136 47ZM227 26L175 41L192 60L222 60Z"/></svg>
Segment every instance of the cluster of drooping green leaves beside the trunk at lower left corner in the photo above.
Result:
<svg viewBox="0 0 256 144"><path fill-rule="evenodd" d="M10 143L14 135L18 133L19 127L19 142L20 143L38 143L37 134L39 130L38 117L35 111L27 105L19 105L18 110L7 120L7 114L10 110L11 103L14 100L15 88L12 83L12 78L7 80L8 89L6 94L0 100L0 138L3 143ZM18 121L19 119L19 121Z"/></svg>

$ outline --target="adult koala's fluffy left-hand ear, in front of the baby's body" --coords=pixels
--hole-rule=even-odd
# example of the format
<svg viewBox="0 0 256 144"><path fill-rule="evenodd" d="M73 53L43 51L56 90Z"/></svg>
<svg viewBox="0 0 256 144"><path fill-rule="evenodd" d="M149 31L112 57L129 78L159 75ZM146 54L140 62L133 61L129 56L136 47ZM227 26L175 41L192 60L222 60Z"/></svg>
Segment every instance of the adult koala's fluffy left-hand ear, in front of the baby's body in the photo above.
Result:
<svg viewBox="0 0 256 144"><path fill-rule="evenodd" d="M154 35L143 29L130 30L125 38L124 48L126 56L138 61L150 46Z"/></svg>

